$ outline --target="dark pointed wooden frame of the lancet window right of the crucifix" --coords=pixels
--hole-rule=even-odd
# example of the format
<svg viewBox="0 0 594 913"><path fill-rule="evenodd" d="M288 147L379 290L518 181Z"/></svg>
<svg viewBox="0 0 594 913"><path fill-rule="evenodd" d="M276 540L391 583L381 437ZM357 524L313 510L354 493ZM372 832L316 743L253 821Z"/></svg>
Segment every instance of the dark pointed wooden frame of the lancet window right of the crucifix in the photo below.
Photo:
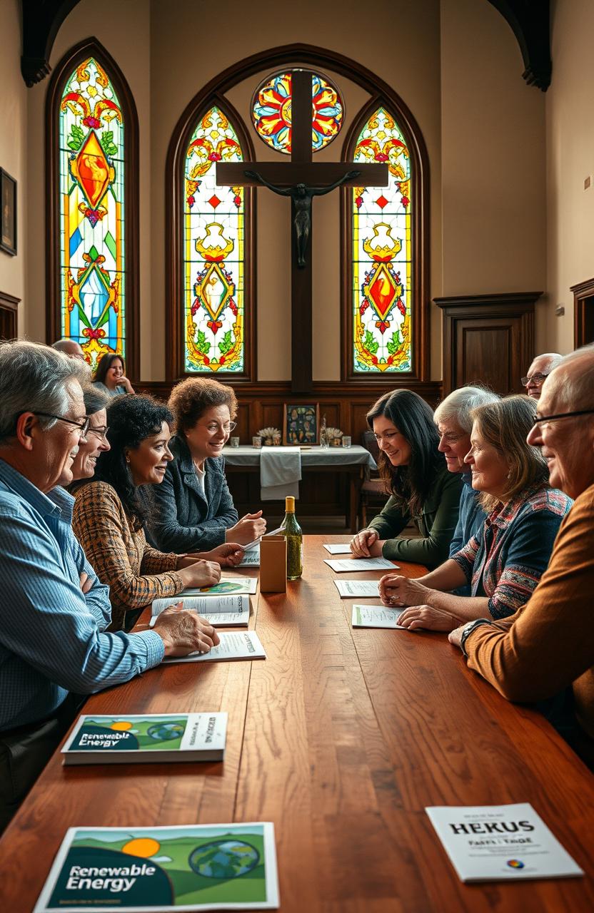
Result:
<svg viewBox="0 0 594 913"><path fill-rule="evenodd" d="M404 102L395 92L377 94L367 101L353 120L343 146L343 161L352 162L356 142L366 122L378 108L394 118L404 136L410 156L412 200L412 295L410 298L412 345L411 371L355 373L353 360L353 207L352 190L342 190L341 201L341 313L342 380L357 384L377 383L383 379L391 386L406 386L408 381L429 380L429 157L419 127Z"/></svg>

